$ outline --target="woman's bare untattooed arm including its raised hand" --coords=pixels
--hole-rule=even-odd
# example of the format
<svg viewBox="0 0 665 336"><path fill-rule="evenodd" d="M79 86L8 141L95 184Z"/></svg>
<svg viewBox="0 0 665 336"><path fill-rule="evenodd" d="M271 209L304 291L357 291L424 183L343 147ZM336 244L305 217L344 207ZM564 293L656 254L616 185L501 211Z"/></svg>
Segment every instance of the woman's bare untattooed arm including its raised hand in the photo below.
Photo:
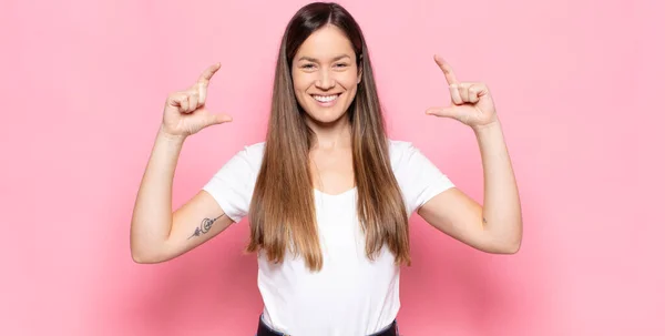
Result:
<svg viewBox="0 0 665 336"><path fill-rule="evenodd" d="M516 253L522 242L520 196L490 90L484 83L459 82L450 64L437 55L434 61L448 81L452 105L430 108L426 113L458 120L475 133L482 156L484 206L450 189L418 213L438 230L478 250Z"/></svg>

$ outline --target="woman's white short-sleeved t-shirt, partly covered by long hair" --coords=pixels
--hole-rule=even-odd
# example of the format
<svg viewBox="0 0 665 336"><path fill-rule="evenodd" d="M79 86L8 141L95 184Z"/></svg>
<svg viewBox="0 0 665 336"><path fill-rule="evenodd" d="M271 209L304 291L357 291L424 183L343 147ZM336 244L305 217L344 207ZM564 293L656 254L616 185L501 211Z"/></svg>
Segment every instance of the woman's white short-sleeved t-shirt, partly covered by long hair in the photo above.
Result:
<svg viewBox="0 0 665 336"><path fill-rule="evenodd" d="M203 187L234 222L247 215L265 143L245 146ZM417 147L390 140L390 162L407 213L453 187ZM310 272L301 257L286 253L274 264L258 253L258 289L263 319L289 335L370 335L392 323L400 308L399 266L383 247L369 261L356 213L356 189L330 195L314 191L324 256L323 269Z"/></svg>

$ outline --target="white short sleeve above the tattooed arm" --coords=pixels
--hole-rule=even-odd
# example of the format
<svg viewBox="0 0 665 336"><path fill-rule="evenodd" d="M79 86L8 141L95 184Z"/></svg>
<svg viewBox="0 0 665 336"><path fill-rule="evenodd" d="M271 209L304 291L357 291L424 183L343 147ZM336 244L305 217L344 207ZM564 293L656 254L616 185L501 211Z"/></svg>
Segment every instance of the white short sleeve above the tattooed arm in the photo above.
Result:
<svg viewBox="0 0 665 336"><path fill-rule="evenodd" d="M203 186L235 223L249 211L256 176L263 159L263 146L245 146L231 157Z"/></svg>

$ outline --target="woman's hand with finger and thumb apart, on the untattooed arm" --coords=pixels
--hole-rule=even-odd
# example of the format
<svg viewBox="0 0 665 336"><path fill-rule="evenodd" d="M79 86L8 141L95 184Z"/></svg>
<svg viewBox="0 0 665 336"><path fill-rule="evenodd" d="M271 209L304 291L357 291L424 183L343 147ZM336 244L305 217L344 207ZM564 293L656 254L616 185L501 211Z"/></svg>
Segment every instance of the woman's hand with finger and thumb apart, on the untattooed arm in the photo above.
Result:
<svg viewBox="0 0 665 336"><path fill-rule="evenodd" d="M444 108L429 108L426 114L452 118L474 130L498 122L492 95L484 83L458 82L450 64L439 55L434 55L434 62L446 75L452 104Z"/></svg>

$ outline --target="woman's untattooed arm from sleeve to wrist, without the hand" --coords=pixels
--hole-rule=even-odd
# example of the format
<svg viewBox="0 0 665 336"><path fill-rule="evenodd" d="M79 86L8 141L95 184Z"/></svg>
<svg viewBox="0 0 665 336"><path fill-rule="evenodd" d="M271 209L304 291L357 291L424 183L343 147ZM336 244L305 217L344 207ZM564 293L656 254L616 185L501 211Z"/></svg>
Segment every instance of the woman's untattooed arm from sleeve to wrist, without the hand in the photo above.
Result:
<svg viewBox="0 0 665 336"><path fill-rule="evenodd" d="M418 213L439 231L480 251L516 253L522 242L522 212L501 124L497 121L474 132L482 156L484 206L450 189Z"/></svg>

